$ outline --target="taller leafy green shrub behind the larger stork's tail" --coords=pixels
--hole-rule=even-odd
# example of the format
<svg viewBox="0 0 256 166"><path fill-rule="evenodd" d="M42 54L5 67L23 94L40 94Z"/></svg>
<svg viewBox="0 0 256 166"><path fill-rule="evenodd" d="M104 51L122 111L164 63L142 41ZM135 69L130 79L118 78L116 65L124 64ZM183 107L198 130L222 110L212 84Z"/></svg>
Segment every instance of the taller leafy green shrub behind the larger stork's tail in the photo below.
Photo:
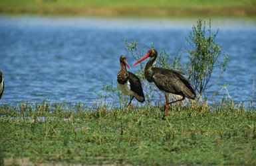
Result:
<svg viewBox="0 0 256 166"><path fill-rule="evenodd" d="M211 20L209 20L208 36L205 30L205 21L199 19L197 26L192 27L192 32L186 38L191 49L186 48L190 61L186 64L186 71L188 72L188 79L192 81L195 90L199 95L214 85L221 73L226 70L229 56L221 52L221 46L214 40L217 36L218 30L215 34L211 33ZM223 58L220 61L219 56ZM209 84L213 70L218 67L219 75Z"/></svg>

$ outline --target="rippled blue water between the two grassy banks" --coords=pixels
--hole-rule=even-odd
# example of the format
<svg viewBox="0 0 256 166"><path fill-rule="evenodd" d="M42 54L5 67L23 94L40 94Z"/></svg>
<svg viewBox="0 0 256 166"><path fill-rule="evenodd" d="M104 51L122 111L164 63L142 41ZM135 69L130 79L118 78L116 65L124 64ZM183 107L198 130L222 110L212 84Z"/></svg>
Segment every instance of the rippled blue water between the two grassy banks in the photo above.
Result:
<svg viewBox="0 0 256 166"><path fill-rule="evenodd" d="M98 99L93 91L103 93L100 76L104 83L116 84L121 54L130 65L136 62L124 39L138 40L139 48L144 45L146 50L154 42L157 50L166 48L175 56L180 46L186 46L185 37L196 21L0 15L0 69L5 79L0 103L47 99L90 106ZM251 100L256 79L256 21L213 19L212 25L214 32L219 28L216 42L231 59L218 83L229 84L235 102ZM186 60L184 54L182 62ZM214 91L216 100L226 95L218 85L207 95Z"/></svg>

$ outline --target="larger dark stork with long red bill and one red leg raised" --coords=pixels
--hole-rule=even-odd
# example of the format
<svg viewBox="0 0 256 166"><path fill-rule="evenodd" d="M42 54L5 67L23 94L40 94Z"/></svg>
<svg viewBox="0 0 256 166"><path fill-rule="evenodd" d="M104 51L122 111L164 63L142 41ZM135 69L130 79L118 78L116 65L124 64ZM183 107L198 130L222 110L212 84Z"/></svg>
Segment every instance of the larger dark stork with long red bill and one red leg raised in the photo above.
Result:
<svg viewBox="0 0 256 166"><path fill-rule="evenodd" d="M190 85L188 79L182 76L184 73L176 71L174 69L152 67L154 61L158 57L158 52L155 49L149 50L148 53L138 62L134 63L134 65L142 62L148 57L150 57L150 60L148 60L148 63L146 64L144 75L148 82L154 82L156 87L158 87L166 96L165 108L167 111L167 116L169 104L183 101L186 97L188 99L195 99L195 91L193 90L192 85ZM167 93L180 95L182 96L182 99L168 103Z"/></svg>

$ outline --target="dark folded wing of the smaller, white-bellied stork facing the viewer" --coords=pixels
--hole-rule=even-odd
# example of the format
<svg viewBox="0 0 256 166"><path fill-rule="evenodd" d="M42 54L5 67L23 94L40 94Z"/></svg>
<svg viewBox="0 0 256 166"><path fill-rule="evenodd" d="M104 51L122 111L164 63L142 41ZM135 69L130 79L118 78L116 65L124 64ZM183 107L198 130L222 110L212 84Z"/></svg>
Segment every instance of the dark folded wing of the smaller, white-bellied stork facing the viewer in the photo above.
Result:
<svg viewBox="0 0 256 166"><path fill-rule="evenodd" d="M145 101L145 97L142 89L142 83L140 82L140 79L136 75L134 75L134 73L131 73L129 71L128 73L129 73L129 82L130 82L131 91L134 91L140 97L143 97L144 99L143 101Z"/></svg>

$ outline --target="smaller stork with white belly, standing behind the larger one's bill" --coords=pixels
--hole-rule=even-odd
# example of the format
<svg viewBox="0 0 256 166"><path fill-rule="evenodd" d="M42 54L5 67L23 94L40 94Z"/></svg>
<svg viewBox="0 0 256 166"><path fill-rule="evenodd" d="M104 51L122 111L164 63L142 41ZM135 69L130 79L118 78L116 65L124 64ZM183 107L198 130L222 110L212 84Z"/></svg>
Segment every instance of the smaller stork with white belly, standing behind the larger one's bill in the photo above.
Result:
<svg viewBox="0 0 256 166"><path fill-rule="evenodd" d="M130 96L130 103L127 106L132 104L132 99L134 99L134 97L139 102L143 103L145 101L145 97L142 89L142 83L136 75L126 70L126 65L129 69L130 66L126 62L125 56L120 56L120 65L121 69L117 75L117 85L124 95Z"/></svg>

